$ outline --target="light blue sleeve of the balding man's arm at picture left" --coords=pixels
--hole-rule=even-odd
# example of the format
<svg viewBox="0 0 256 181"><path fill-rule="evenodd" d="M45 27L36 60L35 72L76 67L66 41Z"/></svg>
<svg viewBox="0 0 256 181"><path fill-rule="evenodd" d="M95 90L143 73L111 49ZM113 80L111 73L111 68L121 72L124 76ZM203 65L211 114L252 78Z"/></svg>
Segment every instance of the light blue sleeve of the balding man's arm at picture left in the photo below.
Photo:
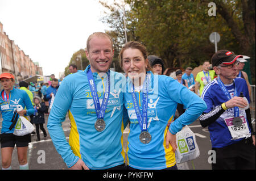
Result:
<svg viewBox="0 0 256 181"><path fill-rule="evenodd" d="M53 145L68 167L72 167L79 160L79 157L73 154L71 146L69 146L63 128L61 127L72 103L73 94L70 90L71 87L73 87L71 82L65 81L64 79L55 96L47 124Z"/></svg>

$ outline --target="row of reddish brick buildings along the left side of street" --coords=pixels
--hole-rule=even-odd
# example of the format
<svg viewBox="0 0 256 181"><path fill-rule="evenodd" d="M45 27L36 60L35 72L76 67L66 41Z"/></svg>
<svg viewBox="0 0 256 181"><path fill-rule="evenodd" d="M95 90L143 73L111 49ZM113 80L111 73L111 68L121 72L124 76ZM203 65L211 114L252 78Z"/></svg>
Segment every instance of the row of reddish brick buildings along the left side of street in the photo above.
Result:
<svg viewBox="0 0 256 181"><path fill-rule="evenodd" d="M0 22L0 73L5 71L13 73L16 81L36 74L43 75L43 69L38 62L33 62L13 40L9 39Z"/></svg>

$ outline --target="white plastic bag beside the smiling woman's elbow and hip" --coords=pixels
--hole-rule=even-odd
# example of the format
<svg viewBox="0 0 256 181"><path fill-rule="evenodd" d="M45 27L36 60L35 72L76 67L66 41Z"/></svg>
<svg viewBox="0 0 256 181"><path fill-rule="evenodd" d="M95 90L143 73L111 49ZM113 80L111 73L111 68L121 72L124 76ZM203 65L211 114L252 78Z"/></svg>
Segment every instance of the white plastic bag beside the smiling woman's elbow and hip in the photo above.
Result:
<svg viewBox="0 0 256 181"><path fill-rule="evenodd" d="M196 144L196 136L187 125L180 132L177 132L176 139L175 156L177 163L191 161L199 157L200 151Z"/></svg>

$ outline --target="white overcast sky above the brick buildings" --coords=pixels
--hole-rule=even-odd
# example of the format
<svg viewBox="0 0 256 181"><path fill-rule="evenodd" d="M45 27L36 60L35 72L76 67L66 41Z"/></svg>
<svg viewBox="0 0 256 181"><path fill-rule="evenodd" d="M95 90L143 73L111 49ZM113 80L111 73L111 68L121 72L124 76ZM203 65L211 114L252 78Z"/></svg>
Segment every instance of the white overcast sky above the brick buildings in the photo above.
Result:
<svg viewBox="0 0 256 181"><path fill-rule="evenodd" d="M39 62L44 75L64 71L86 39L107 30L97 0L0 0L0 22L14 43Z"/></svg>

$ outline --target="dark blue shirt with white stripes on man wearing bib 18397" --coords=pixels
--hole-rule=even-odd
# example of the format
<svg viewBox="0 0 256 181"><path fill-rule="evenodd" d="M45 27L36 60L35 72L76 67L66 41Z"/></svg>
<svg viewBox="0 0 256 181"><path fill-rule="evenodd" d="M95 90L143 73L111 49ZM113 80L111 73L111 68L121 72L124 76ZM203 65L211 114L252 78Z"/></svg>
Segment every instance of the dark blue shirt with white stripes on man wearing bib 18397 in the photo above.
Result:
<svg viewBox="0 0 256 181"><path fill-rule="evenodd" d="M240 95L240 92L243 92L243 95L250 103L250 96L245 80L242 78L235 78L233 83L230 85L225 85L232 98L234 96L234 86L236 86L237 89L237 96ZM215 107L220 106L222 103L229 100L224 94L224 91L222 91L221 87L218 85L217 78L213 79L212 82L204 87L201 98L207 104L207 110L204 111L205 113L214 110ZM249 128L250 131L245 110L239 109L239 115L245 117L245 127ZM226 110L220 117L218 117L216 121L214 121L214 123L209 125L208 129L213 148L223 148L245 138L243 137L236 140L233 139L232 134L229 131L229 127L225 121L225 119L230 119L230 117L234 117L234 108Z"/></svg>

